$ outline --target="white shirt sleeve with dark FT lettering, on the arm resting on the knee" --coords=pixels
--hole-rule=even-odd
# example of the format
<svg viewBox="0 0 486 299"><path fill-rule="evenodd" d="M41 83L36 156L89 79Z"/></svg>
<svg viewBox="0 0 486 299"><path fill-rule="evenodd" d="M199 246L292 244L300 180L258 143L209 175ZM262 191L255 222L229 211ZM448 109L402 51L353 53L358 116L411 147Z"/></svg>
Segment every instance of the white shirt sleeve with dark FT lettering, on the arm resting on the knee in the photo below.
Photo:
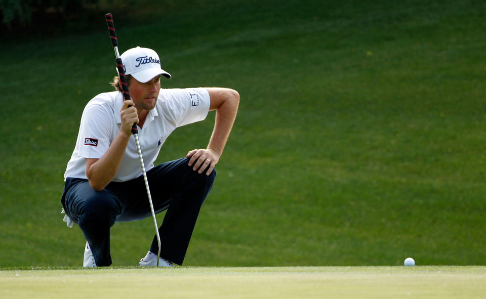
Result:
<svg viewBox="0 0 486 299"><path fill-rule="evenodd" d="M205 88L173 89L170 101L175 108L173 111L179 112L173 115L176 127L204 120L211 104Z"/></svg>

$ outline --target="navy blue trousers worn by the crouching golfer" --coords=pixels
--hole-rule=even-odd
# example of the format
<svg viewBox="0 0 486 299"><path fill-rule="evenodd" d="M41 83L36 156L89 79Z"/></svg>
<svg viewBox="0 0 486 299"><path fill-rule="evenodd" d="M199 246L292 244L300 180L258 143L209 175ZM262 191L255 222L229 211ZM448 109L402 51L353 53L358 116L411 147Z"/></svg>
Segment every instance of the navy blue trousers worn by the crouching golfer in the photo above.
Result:
<svg viewBox="0 0 486 299"><path fill-rule="evenodd" d="M155 213L167 209L158 231L160 256L182 265L201 205L211 191L216 170L198 174L182 158L162 163L147 172ZM115 222L152 216L143 176L111 182L95 191L88 180L67 178L61 203L69 218L83 231L97 266L111 265L110 227ZM150 251L158 252L154 235Z"/></svg>

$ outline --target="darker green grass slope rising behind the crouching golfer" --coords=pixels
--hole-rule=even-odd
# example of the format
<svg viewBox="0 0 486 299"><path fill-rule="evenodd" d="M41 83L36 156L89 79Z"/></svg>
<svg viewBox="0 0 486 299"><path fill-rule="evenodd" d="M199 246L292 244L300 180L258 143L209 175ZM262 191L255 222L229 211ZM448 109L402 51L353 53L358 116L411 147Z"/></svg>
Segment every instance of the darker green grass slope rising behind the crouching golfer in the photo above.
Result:
<svg viewBox="0 0 486 299"><path fill-rule="evenodd" d="M484 265L483 2L194 3L127 24L112 11L120 50L157 50L165 87L241 96L185 265ZM99 24L0 45L0 268L81 263L59 200L80 114L114 75ZM213 121L158 162L205 147ZM116 224L113 265L152 237L150 219Z"/></svg>

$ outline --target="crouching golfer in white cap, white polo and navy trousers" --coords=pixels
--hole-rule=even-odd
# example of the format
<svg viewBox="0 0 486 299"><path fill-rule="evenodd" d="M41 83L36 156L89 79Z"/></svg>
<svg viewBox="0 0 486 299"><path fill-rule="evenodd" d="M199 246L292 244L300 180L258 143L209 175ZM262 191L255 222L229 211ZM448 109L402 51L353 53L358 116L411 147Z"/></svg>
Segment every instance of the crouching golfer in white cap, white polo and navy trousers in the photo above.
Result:
<svg viewBox="0 0 486 299"><path fill-rule="evenodd" d="M155 213L167 210L158 231L159 266L182 265L199 214L216 178L238 109L239 95L225 88L160 89L157 53L133 48L121 55L131 100L116 91L94 97L85 107L76 146L64 174L61 203L68 226L76 223L86 238L84 267L111 265L110 227L115 222L151 217L150 204L131 128L137 123L140 148ZM206 118L216 110L207 148L190 150L184 158L154 166L168 136L179 126ZM190 138L190 137L189 137ZM158 242L139 266L157 264Z"/></svg>

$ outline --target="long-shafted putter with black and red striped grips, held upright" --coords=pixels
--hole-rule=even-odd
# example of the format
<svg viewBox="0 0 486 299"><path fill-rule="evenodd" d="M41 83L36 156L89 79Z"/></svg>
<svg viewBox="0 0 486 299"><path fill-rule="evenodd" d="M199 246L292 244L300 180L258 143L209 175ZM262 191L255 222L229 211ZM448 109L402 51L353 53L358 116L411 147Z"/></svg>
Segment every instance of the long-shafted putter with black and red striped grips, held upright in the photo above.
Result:
<svg viewBox="0 0 486 299"><path fill-rule="evenodd" d="M113 16L111 14L106 14L106 24L108 25L108 30L110 32L111 44L115 50L116 66L118 68L118 74L120 75L121 90L123 90L123 97L126 100L130 100L130 92L128 91L127 78L125 77L125 69L123 67L123 62L120 58L120 53L118 52L118 39L116 38L115 25L113 24ZM155 235L157 236L158 252L157 252L157 267L158 260L160 259L160 235L158 233L157 219L155 218L155 211L153 210L152 197L150 195L150 189L148 187L147 174L145 173L145 166L143 164L142 151L140 149L140 143L138 141L138 129L137 124L134 123L132 126L132 134L135 137L135 143L137 144L138 157L140 159L140 166L142 166L143 180L145 181L145 188L147 189L148 202L150 203L150 210L152 212L153 225L155 226Z"/></svg>

